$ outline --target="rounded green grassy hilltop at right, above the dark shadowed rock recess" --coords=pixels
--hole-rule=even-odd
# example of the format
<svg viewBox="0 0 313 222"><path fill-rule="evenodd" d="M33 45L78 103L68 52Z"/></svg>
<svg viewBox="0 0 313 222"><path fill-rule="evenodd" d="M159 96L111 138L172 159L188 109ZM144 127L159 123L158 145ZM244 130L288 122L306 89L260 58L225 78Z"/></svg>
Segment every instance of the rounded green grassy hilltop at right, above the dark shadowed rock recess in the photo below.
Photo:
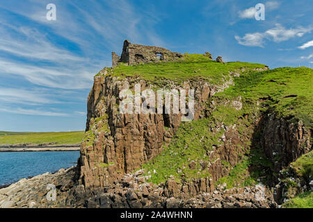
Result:
<svg viewBox="0 0 313 222"><path fill-rule="evenodd" d="M235 78L234 86L216 96L225 99L241 96L247 105L268 98L264 104L266 109L290 121L301 119L305 126L313 128L313 69L310 68L286 67L244 73Z"/></svg>

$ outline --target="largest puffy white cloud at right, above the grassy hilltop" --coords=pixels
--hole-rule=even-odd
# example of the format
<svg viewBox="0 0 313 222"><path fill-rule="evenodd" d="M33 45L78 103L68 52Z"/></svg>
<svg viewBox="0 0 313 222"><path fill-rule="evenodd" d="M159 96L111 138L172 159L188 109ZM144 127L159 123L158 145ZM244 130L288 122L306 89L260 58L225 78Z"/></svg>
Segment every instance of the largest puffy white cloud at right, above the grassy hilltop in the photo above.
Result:
<svg viewBox="0 0 313 222"><path fill-rule="evenodd" d="M239 44L244 46L264 46L264 40L271 40L273 42L287 41L293 37L302 37L305 33L310 33L313 30L309 28L284 28L280 24L275 24L274 28L268 29L264 33L246 33L243 37L235 35L235 39Z"/></svg>

